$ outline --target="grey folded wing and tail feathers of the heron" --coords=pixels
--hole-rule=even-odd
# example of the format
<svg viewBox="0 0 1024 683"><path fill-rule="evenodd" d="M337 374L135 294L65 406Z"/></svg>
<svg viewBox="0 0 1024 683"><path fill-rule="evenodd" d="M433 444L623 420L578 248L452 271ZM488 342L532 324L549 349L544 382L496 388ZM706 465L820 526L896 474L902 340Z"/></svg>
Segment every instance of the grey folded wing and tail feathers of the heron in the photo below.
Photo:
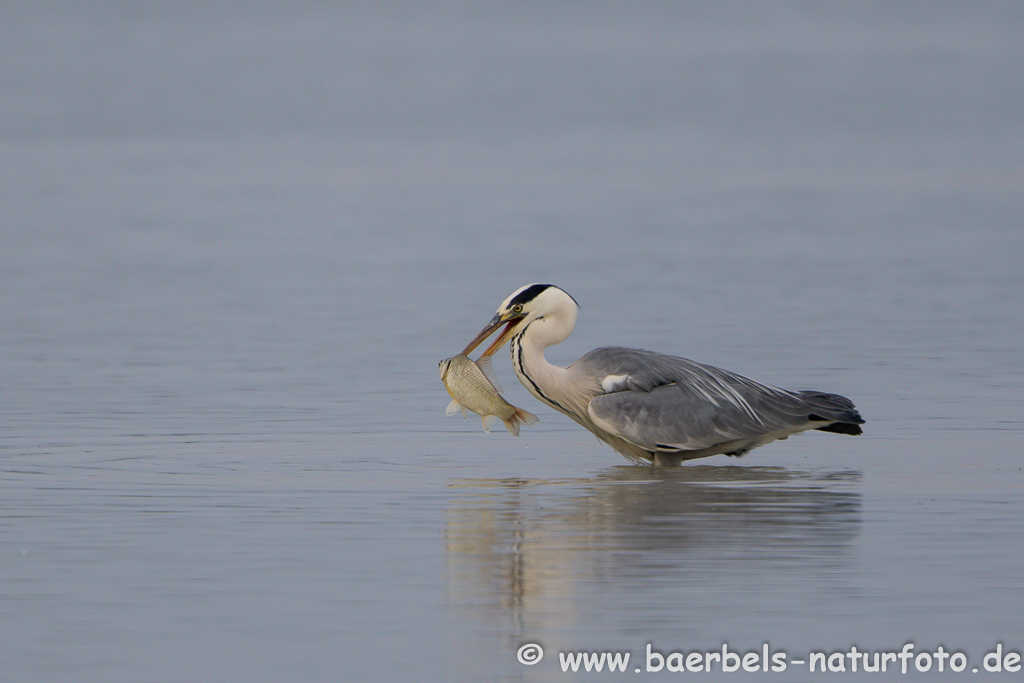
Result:
<svg viewBox="0 0 1024 683"><path fill-rule="evenodd" d="M578 364L595 376L629 377L622 390L595 396L588 413L602 428L648 451L698 451L807 428L812 419L862 422L842 396L786 391L664 353L606 347Z"/></svg>

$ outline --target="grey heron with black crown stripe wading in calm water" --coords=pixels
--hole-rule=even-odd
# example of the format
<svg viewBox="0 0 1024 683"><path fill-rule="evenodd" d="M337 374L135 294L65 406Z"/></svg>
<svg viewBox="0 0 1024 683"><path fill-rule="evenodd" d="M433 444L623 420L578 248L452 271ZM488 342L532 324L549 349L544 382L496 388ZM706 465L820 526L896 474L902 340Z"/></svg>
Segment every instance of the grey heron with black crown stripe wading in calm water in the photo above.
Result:
<svg viewBox="0 0 1024 683"><path fill-rule="evenodd" d="M861 433L864 421L845 396L787 391L665 353L606 346L568 368L554 366L544 350L568 338L578 309L553 285L526 285L502 302L463 353L504 325L482 355L511 340L512 367L523 386L633 462L741 456L808 429Z"/></svg>

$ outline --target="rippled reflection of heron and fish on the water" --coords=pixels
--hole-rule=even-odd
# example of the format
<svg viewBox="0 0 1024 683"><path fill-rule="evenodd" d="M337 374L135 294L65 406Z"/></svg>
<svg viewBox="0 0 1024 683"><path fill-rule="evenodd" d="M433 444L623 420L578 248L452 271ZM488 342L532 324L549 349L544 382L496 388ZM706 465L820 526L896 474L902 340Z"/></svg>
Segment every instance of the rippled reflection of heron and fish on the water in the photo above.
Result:
<svg viewBox="0 0 1024 683"><path fill-rule="evenodd" d="M508 616L516 638L581 628L592 608L585 603L614 603L608 593L649 591L656 609L659 590L743 590L764 577L842 573L859 530L859 479L855 470L710 466L455 479L451 599L484 618Z"/></svg>

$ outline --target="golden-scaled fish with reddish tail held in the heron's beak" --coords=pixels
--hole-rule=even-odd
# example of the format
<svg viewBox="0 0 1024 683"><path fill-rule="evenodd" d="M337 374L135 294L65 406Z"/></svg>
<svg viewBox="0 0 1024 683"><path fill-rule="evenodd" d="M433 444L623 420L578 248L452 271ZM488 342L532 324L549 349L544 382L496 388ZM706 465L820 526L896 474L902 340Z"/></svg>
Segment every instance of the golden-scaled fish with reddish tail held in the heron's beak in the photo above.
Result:
<svg viewBox="0 0 1024 683"><path fill-rule="evenodd" d="M519 435L520 424L531 425L537 422L537 416L516 408L498 393L501 388L490 370L490 356L481 356L474 362L460 353L444 358L438 367L441 382L452 396L446 415L455 415L460 409L463 415L466 411L472 411L482 419L485 432L490 431L492 421L498 418L513 436Z"/></svg>

